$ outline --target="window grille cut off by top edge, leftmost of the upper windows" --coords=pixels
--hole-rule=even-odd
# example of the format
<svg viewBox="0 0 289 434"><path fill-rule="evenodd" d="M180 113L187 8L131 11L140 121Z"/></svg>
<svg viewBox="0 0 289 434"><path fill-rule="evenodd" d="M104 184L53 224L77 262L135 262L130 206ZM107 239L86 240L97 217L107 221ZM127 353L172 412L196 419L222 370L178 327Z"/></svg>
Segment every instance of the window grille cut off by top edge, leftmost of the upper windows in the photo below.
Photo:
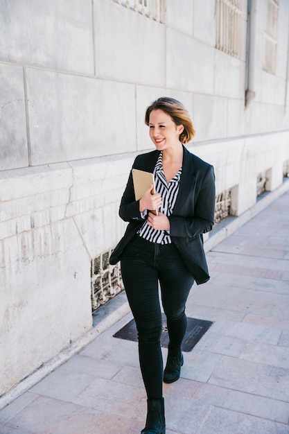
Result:
<svg viewBox="0 0 289 434"><path fill-rule="evenodd" d="M114 0L125 8L164 23L165 0Z"/></svg>

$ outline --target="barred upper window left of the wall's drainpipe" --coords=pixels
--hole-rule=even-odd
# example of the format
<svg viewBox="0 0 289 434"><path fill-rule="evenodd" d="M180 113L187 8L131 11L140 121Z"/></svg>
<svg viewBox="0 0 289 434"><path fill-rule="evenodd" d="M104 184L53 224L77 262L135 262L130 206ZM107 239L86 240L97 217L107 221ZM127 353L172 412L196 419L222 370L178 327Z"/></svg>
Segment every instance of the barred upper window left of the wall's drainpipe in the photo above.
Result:
<svg viewBox="0 0 289 434"><path fill-rule="evenodd" d="M216 48L240 57L242 0L217 0Z"/></svg>

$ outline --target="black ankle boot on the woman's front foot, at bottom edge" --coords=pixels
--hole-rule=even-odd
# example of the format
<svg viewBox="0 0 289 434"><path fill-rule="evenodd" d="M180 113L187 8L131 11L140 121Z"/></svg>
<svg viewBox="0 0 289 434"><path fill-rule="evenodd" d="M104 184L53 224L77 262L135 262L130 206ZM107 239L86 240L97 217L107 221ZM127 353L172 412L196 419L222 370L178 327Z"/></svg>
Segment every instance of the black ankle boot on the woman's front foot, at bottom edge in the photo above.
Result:
<svg viewBox="0 0 289 434"><path fill-rule="evenodd" d="M141 430L141 434L166 434L164 398L148 399L146 427Z"/></svg>

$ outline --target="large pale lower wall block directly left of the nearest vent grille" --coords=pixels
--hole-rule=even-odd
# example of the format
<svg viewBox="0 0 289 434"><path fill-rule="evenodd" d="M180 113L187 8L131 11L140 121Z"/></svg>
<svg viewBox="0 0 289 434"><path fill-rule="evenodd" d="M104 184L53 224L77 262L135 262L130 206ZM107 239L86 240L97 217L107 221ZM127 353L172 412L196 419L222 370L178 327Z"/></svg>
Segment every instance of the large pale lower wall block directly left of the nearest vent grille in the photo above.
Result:
<svg viewBox="0 0 289 434"><path fill-rule="evenodd" d="M6 238L1 251L2 345L9 348L0 354L4 393L82 336L92 320L90 259L73 220Z"/></svg>

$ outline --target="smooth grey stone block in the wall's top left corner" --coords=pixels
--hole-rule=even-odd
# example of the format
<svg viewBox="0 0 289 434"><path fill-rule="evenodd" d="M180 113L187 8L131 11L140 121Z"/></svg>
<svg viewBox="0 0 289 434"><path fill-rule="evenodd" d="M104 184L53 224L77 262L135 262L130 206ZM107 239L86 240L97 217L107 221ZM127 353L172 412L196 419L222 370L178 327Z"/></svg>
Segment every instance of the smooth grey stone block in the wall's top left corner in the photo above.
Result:
<svg viewBox="0 0 289 434"><path fill-rule="evenodd" d="M4 60L94 73L90 0L3 0L0 28Z"/></svg>

